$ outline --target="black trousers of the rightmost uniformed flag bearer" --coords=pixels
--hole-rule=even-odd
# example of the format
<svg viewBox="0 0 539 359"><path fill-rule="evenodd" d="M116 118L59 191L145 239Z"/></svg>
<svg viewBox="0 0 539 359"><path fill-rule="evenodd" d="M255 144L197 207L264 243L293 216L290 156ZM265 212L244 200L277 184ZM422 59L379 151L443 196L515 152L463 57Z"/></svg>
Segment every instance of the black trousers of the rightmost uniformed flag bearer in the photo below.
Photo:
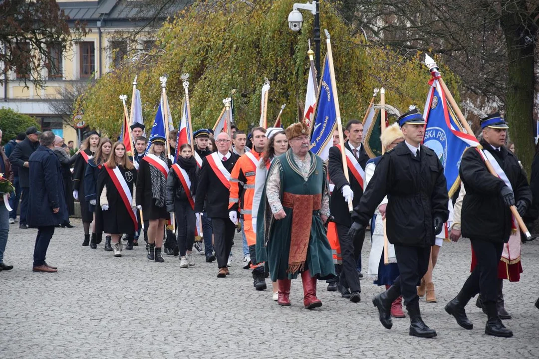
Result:
<svg viewBox="0 0 539 359"><path fill-rule="evenodd" d="M472 242L477 265L466 279L462 292L469 298L481 293L483 303L496 302L499 292L498 263L502 256L503 243L493 243L482 240Z"/></svg>

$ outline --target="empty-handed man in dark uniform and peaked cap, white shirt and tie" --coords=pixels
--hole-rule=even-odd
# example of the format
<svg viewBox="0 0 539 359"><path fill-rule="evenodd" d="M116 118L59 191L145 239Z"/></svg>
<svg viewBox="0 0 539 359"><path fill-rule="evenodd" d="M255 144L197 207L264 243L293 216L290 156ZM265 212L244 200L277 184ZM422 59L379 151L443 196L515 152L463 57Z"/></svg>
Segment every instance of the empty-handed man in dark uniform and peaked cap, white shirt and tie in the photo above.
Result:
<svg viewBox="0 0 539 359"><path fill-rule="evenodd" d="M425 133L423 116L413 109L399 117L405 140L384 154L354 208L350 238L360 235L385 195L388 240L395 245L400 275L372 303L379 319L391 329L391 303L402 295L410 314L410 335L434 337L436 330L421 319L417 286L429 269L431 247L447 221L449 210L444 167L436 153L421 145Z"/></svg>

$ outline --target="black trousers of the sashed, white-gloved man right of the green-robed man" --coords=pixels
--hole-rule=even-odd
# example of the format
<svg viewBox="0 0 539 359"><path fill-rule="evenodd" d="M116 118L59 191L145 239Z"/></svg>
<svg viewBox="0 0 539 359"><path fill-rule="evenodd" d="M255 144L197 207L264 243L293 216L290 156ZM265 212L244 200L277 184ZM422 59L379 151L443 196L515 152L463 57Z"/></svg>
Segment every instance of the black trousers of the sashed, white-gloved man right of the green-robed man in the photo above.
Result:
<svg viewBox="0 0 539 359"><path fill-rule="evenodd" d="M351 240L348 237L350 227L337 223L338 242L341 244L342 271L339 274L339 283L350 292L361 292L360 278L357 275L357 258L361 256L361 249L365 241L365 230Z"/></svg>

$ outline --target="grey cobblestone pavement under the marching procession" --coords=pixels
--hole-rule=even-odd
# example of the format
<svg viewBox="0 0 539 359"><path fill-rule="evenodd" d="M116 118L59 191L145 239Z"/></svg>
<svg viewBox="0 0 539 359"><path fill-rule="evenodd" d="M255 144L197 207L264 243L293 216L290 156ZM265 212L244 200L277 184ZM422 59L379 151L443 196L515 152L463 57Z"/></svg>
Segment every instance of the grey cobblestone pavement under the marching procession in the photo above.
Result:
<svg viewBox="0 0 539 359"><path fill-rule="evenodd" d="M408 335L409 319L394 319L386 330L371 298L382 289L362 280L362 301L353 304L319 283L323 306L302 305L300 280L292 284L292 306L271 301L271 290L257 292L250 271L241 268L239 237L231 275L216 277L217 265L196 256L196 266L180 269L178 257L165 263L146 259L144 247L112 252L81 247L82 226L58 228L47 262L58 273L33 273L35 229L11 225L0 272L0 356L3 358L330 358L330 357L537 357L539 350L539 241L523 245L520 283L505 284L505 321L515 336L486 336L486 316L467 306L473 330L460 328L444 311L464 283L469 241L444 243L434 283L438 302L421 299L433 340ZM367 235L370 238L369 234ZM366 241L367 242L367 241ZM363 263L370 245L365 244ZM268 281L268 287L269 281Z"/></svg>

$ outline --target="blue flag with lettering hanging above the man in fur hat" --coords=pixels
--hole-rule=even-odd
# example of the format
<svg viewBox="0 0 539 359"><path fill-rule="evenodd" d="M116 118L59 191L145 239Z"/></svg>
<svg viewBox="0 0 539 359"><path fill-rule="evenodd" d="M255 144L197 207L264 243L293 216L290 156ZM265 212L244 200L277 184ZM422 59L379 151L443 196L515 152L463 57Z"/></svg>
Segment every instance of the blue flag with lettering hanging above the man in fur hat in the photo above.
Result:
<svg viewBox="0 0 539 359"><path fill-rule="evenodd" d="M328 159L329 148L333 146L333 131L335 131L336 125L337 111L335 109L335 97L333 88L331 87L329 60L326 56L318 107L313 123L313 133L310 137L311 151L320 156L324 161Z"/></svg>

